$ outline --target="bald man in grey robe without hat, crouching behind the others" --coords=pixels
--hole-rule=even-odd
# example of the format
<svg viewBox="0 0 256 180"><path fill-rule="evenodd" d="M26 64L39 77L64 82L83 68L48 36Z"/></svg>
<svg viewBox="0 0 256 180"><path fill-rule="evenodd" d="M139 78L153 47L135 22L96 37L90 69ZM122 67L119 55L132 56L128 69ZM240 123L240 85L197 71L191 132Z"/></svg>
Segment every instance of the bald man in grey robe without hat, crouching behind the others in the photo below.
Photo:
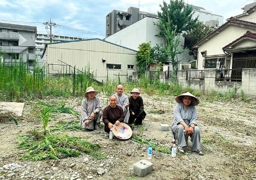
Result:
<svg viewBox="0 0 256 180"><path fill-rule="evenodd" d="M130 113L129 113L129 100L128 96L123 93L123 85L117 85L116 93L117 105L123 108L123 113L125 113L125 120L123 122L128 123Z"/></svg>

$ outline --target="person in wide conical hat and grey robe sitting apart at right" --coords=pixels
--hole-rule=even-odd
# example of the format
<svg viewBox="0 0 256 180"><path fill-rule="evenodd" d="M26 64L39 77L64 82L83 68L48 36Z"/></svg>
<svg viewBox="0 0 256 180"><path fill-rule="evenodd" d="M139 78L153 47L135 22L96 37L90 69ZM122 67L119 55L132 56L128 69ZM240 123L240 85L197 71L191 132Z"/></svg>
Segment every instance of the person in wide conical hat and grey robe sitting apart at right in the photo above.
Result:
<svg viewBox="0 0 256 180"><path fill-rule="evenodd" d="M192 152L203 155L200 150L200 130L197 126L197 113L195 106L199 104L198 98L192 93L183 93L175 98L177 105L174 107L174 121L172 122L172 132L174 139L178 140L178 151L185 153L183 147L187 147L186 140L190 136L192 142Z"/></svg>

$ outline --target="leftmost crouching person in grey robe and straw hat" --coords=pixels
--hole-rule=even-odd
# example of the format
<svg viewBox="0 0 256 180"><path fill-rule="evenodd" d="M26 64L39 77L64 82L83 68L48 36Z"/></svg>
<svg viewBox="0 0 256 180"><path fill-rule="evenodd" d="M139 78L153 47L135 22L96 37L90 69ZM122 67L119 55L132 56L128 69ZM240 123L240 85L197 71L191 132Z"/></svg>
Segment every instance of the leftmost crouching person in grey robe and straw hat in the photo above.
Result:
<svg viewBox="0 0 256 180"><path fill-rule="evenodd" d="M93 87L88 87L82 100L81 126L90 131L99 129L100 118L102 117L102 107L100 99L96 96L97 93Z"/></svg>

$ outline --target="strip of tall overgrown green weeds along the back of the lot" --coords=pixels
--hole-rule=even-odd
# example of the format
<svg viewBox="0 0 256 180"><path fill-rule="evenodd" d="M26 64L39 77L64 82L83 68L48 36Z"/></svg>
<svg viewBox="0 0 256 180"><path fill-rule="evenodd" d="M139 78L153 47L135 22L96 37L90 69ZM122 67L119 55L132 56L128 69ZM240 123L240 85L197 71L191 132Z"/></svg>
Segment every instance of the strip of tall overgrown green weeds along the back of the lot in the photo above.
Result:
<svg viewBox="0 0 256 180"><path fill-rule="evenodd" d="M7 54L0 51L0 58L5 61L6 57ZM0 61L0 100L4 101L42 99L46 96L84 96L86 88L89 86L109 96L115 93L115 88L121 83L119 75L117 79L113 80L108 79L107 75L107 82L97 82L94 79L94 72L90 72L90 67L86 67L82 71L73 67L72 74L67 74L66 70L66 74L45 75L45 69L38 67L37 63L34 64L33 71L30 71L31 67L29 67L28 61L24 61L22 57L8 63L3 63L4 61ZM200 92L196 92L190 87L183 89L175 79L170 82L161 82L158 78L150 79L146 73L140 75L139 79L133 82L123 83L123 86L126 94L130 94L133 88L139 88L141 93L148 95L177 96L180 93L190 92L195 96L201 96ZM236 88L231 88L226 93L217 93L211 90L206 95L208 101L231 100L232 98L247 101L244 92L238 93Z"/></svg>

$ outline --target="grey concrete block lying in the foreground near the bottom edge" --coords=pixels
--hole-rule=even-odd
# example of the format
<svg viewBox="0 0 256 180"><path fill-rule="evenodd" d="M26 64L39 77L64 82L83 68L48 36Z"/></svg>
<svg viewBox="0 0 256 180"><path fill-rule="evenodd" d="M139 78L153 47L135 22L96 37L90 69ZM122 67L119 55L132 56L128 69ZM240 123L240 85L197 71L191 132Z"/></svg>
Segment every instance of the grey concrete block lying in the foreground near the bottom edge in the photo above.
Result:
<svg viewBox="0 0 256 180"><path fill-rule="evenodd" d="M144 177L148 173L151 173L153 167L152 163L146 160L140 160L133 164L133 173L139 177Z"/></svg>

